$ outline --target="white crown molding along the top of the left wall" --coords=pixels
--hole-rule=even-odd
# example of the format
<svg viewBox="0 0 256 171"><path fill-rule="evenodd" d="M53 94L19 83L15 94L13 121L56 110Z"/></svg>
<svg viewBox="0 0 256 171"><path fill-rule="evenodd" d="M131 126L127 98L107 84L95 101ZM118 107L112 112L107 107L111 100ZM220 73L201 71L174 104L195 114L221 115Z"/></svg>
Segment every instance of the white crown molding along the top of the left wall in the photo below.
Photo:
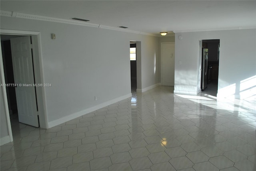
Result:
<svg viewBox="0 0 256 171"><path fill-rule="evenodd" d="M155 34L144 33L144 32L134 31L134 30L130 30L130 29L114 28L114 27L110 27L110 26L103 26L101 24L92 24L92 23L88 23L88 22L79 22L79 21L65 20L65 19L60 19L60 18L52 18L52 17L46 17L46 16L23 14L23 13L18 13L18 12L1 11L0 16L12 17L12 18L25 18L25 19L30 19L30 20L41 20L41 21L57 22L57 23L65 23L65 24L73 24L73 25L79 25L79 26L88 26L88 27L94 27L94 28L110 29L110 30L128 32L128 33L135 33L135 34L157 36Z"/></svg>

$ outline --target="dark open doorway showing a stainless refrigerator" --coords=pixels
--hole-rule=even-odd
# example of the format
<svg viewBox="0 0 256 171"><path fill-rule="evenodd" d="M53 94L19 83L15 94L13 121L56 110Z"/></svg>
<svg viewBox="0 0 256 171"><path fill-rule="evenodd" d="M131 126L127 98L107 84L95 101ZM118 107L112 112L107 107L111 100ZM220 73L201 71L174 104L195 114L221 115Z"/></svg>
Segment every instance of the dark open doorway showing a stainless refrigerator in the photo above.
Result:
<svg viewBox="0 0 256 171"><path fill-rule="evenodd" d="M202 40L201 90L217 96L220 39Z"/></svg>

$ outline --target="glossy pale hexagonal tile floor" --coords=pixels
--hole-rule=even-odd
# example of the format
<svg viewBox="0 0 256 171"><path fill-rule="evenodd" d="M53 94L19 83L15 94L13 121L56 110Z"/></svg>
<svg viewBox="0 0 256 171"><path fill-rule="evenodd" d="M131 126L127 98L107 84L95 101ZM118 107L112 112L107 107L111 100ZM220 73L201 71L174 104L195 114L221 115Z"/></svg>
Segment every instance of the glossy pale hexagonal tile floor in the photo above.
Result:
<svg viewBox="0 0 256 171"><path fill-rule="evenodd" d="M256 171L253 100L159 86L48 130L13 125L1 171Z"/></svg>

